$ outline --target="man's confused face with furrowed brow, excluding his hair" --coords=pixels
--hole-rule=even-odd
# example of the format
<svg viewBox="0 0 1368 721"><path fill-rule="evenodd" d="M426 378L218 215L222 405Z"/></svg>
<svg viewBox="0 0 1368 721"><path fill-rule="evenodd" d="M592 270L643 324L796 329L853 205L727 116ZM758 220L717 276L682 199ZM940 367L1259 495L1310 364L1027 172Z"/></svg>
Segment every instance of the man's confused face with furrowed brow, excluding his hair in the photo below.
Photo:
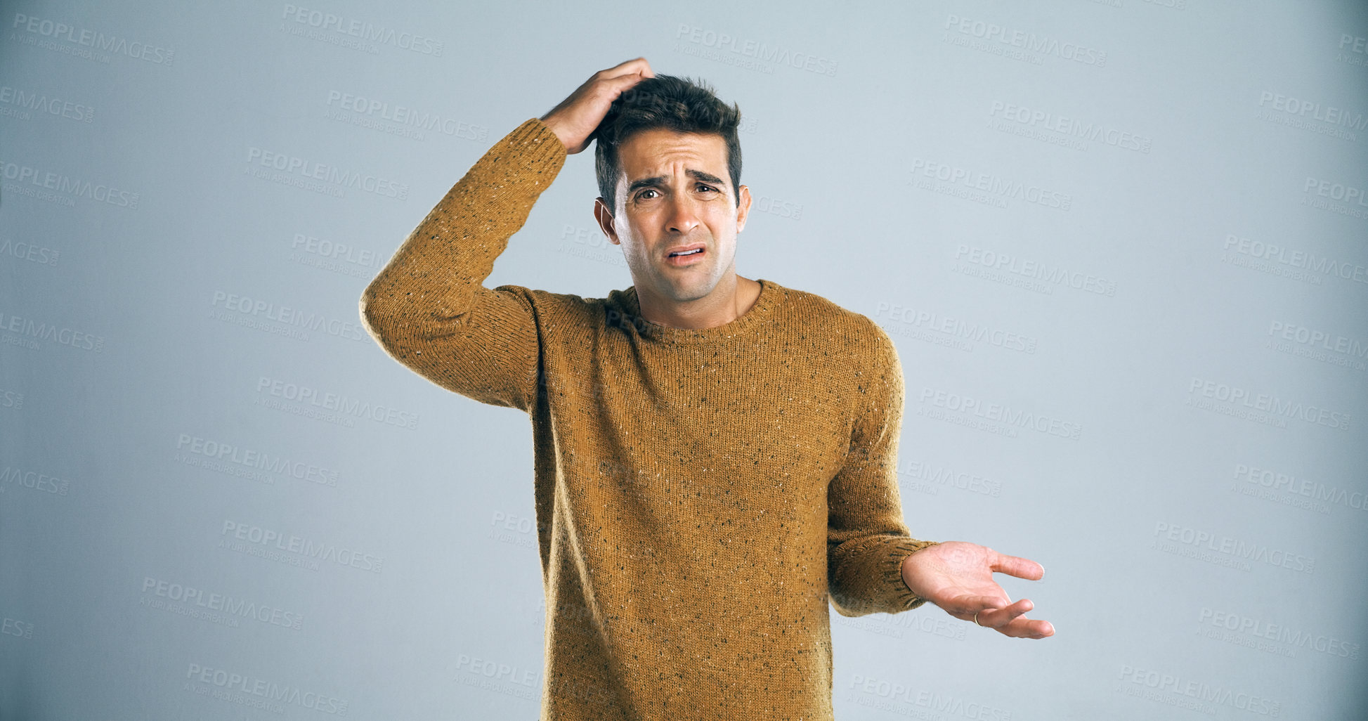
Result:
<svg viewBox="0 0 1368 721"><path fill-rule="evenodd" d="M721 135L643 130L618 146L622 176L617 213L602 200L594 215L622 246L637 293L666 302L735 291L736 235L746 227L750 190L733 189ZM736 197L740 192L741 204ZM672 250L699 252L672 256ZM729 280L722 289L718 283Z"/></svg>

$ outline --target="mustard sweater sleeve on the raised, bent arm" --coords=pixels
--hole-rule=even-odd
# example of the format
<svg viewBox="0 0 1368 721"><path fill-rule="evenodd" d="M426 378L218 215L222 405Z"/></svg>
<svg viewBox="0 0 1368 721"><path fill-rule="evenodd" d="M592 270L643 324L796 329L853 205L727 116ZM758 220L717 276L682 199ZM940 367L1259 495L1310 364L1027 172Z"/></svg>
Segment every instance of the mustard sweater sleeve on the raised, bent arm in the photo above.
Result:
<svg viewBox="0 0 1368 721"><path fill-rule="evenodd" d="M394 360L483 404L527 410L540 341L531 294L486 278L565 164L534 118L490 148L361 294L361 320Z"/></svg>

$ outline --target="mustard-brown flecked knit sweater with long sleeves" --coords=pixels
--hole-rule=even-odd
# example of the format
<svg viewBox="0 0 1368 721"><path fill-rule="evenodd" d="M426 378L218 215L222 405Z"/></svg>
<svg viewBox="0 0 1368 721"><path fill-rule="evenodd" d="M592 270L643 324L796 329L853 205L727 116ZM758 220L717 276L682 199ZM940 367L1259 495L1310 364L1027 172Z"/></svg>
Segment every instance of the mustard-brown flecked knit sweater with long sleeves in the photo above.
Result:
<svg viewBox="0 0 1368 721"><path fill-rule="evenodd" d="M565 159L546 124L520 124L361 298L391 357L531 417L542 718L830 720L828 601L843 616L923 603L900 573L933 542L903 523L893 343L766 279L703 330L646 320L635 287L484 287Z"/></svg>

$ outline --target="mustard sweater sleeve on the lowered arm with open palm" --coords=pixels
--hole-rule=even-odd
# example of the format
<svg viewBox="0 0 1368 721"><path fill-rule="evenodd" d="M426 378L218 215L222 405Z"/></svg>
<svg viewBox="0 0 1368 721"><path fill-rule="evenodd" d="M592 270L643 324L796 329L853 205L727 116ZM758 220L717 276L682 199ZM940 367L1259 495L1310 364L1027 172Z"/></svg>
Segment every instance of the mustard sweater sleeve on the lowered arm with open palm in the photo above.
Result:
<svg viewBox="0 0 1368 721"><path fill-rule="evenodd" d="M903 560L937 542L917 540L903 523L897 491L897 439L903 420L903 368L877 323L874 363L860 380L862 412L845 465L826 490L826 569L832 605L841 616L900 613L926 601L903 581Z"/></svg>

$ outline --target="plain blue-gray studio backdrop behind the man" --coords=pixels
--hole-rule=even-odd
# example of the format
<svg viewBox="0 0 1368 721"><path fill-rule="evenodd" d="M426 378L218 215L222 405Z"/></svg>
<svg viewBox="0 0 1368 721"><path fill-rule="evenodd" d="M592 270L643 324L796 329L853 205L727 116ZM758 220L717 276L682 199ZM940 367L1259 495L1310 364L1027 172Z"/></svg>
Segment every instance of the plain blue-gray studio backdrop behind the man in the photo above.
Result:
<svg viewBox="0 0 1368 721"><path fill-rule="evenodd" d="M1048 569L832 612L840 718L1363 718L1365 12L911 5L5 3L0 718L536 716L527 417L357 298L637 55L741 108L739 272L897 342L912 534ZM592 163L487 286L631 285Z"/></svg>

